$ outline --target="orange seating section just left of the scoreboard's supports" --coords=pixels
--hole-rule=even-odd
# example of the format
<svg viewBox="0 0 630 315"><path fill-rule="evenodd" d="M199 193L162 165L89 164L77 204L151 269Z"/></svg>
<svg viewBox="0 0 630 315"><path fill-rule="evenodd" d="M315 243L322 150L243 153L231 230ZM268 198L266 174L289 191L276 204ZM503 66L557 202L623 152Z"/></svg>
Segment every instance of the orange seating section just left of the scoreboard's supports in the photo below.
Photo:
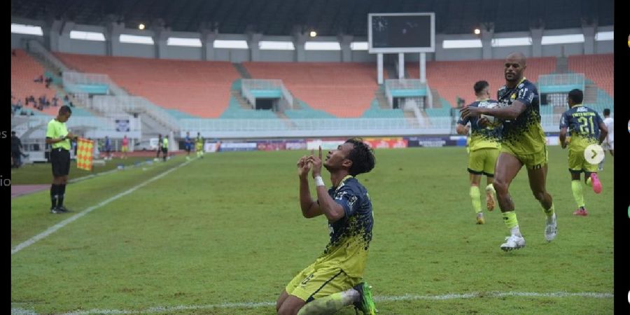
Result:
<svg viewBox="0 0 630 315"><path fill-rule="evenodd" d="M357 118L378 89L374 64L340 62L244 62L252 78L280 79L312 109Z"/></svg>

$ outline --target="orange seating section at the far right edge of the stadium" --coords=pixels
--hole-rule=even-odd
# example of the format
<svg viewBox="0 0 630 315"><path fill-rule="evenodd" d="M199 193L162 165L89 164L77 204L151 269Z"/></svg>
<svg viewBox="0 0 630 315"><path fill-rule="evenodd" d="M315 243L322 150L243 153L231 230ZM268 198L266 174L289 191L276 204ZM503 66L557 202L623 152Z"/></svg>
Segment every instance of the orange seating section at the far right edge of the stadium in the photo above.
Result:
<svg viewBox="0 0 630 315"><path fill-rule="evenodd" d="M573 55L568 57L568 67L575 73L584 73L610 97L615 97L615 57L607 55Z"/></svg>

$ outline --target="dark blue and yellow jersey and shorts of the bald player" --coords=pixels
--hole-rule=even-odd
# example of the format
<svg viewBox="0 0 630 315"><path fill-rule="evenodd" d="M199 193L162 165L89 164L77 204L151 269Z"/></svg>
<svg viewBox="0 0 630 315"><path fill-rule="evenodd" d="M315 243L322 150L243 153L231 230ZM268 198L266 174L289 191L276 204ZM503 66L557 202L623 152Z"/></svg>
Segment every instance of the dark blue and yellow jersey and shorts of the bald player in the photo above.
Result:
<svg viewBox="0 0 630 315"><path fill-rule="evenodd" d="M516 87L503 85L497 92L501 107L514 101L525 104L525 110L514 120L503 120L502 151L516 156L529 168L547 164L547 139L540 125L538 89L526 78Z"/></svg>

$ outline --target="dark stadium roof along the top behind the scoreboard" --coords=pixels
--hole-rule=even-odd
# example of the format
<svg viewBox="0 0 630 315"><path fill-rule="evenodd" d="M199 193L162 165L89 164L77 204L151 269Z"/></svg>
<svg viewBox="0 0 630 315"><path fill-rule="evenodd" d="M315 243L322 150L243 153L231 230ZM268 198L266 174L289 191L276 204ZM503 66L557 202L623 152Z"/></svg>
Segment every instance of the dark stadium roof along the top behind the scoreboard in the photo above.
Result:
<svg viewBox="0 0 630 315"><path fill-rule="evenodd" d="M299 25L321 36L366 36L367 13L390 12L435 12L442 34L468 34L482 23L493 23L495 32L614 24L613 0L11 0L12 17L173 31L218 27L223 34L288 35Z"/></svg>

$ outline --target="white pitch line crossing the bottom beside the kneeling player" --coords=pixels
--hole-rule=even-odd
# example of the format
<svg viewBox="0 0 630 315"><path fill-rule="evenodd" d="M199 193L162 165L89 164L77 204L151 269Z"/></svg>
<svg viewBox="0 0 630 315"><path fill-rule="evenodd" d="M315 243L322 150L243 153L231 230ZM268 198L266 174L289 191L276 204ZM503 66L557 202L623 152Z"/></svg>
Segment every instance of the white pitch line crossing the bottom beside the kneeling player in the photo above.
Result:
<svg viewBox="0 0 630 315"><path fill-rule="evenodd" d="M568 293L568 292L549 292L549 293L537 293L537 292L471 292L471 293L450 293L444 295L413 295L405 294L400 296L374 296L376 302L396 302L396 301L409 301L409 300L456 300L456 299L470 299L470 298L486 298L486 297L591 297L598 299L611 299L614 297L612 293L596 293L596 292L580 292L580 293ZM221 303L221 304L206 304L206 305L178 305L174 307L150 307L140 311L134 311L130 309L89 309L85 311L71 311L64 313L64 315L89 315L89 314L156 314L156 313L169 313L173 311L194 311L203 309L230 309L230 308L258 308L258 307L273 307L275 302L237 302L237 303ZM34 311L11 308L11 314L36 314Z"/></svg>

